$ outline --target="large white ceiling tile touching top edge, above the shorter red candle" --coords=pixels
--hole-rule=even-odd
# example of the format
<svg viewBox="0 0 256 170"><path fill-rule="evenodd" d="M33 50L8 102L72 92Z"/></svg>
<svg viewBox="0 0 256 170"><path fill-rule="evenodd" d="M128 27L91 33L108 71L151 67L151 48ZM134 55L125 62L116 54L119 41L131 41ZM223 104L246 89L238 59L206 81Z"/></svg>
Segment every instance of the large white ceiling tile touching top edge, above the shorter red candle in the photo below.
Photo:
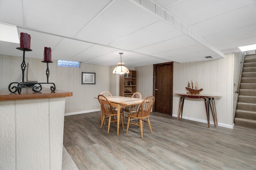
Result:
<svg viewBox="0 0 256 170"><path fill-rule="evenodd" d="M74 37L110 0L25 1L26 26ZM36 15L35 15L36 14Z"/></svg>

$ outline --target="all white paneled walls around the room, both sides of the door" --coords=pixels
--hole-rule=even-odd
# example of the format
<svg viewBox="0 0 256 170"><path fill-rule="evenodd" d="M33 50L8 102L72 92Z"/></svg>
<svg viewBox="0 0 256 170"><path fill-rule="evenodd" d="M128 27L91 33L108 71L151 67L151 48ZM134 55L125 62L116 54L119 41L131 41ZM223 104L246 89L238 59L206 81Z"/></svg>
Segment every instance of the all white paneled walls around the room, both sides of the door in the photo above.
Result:
<svg viewBox="0 0 256 170"><path fill-rule="evenodd" d="M239 54L237 54L239 55ZM198 82L201 92L206 95L222 96L216 99L218 123L220 126L233 125L234 102L234 71L233 65L236 55L225 55L223 59L193 62L174 62L174 93L186 93L188 81ZM32 71L40 82L46 82L46 64L40 59L26 58ZM239 59L238 59L239 60ZM10 82L21 79L21 57L0 55L0 90L8 88ZM238 61L236 61L237 63ZM99 110L100 105L94 99L102 91L110 91L119 95L118 75L112 74L113 66L81 63L80 68L58 67L56 61L49 64L50 80L56 84L56 89L73 92L73 96L66 98L65 113L86 113ZM131 69L131 68L129 68ZM238 68L239 69L239 68ZM153 94L153 65L135 67L137 70L137 91L142 97ZM81 72L96 72L96 85L82 85ZM114 83L113 83L114 82ZM111 86L111 87L110 87ZM116 93L116 94L115 94ZM91 103L89 103L91 100ZM179 96L173 96L173 116L178 113ZM66 114L66 115L67 115ZM183 118L206 123L205 106L202 100L186 99L184 103ZM212 121L212 117L210 117ZM212 122L213 123L213 122Z"/></svg>

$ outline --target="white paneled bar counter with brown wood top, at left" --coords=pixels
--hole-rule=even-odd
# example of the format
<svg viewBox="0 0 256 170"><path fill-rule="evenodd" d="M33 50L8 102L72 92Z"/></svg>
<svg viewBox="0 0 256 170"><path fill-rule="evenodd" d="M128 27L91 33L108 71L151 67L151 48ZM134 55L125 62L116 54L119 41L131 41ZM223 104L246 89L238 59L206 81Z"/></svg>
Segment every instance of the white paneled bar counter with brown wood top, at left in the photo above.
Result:
<svg viewBox="0 0 256 170"><path fill-rule="evenodd" d="M43 88L0 91L0 170L61 170L65 98Z"/></svg>

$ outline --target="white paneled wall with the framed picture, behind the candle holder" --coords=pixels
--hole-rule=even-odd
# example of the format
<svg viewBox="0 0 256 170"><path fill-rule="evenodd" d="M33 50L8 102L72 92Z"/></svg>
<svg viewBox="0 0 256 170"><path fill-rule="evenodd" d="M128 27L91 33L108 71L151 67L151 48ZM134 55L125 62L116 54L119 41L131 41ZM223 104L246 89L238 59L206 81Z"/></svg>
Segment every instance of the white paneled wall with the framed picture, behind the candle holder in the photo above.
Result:
<svg viewBox="0 0 256 170"><path fill-rule="evenodd" d="M25 58L26 64L37 78L38 82L47 82L46 63L43 59ZM100 109L97 99L102 91L110 91L110 66L80 63L80 68L57 66L57 61L49 63L49 82L56 85L57 90L73 92L66 98L65 113L85 113ZM20 64L22 57L0 55L0 90L8 89L10 82L22 80ZM82 72L95 72L96 84L82 84ZM42 85L50 88L51 84ZM89 100L91 102L89 102Z"/></svg>

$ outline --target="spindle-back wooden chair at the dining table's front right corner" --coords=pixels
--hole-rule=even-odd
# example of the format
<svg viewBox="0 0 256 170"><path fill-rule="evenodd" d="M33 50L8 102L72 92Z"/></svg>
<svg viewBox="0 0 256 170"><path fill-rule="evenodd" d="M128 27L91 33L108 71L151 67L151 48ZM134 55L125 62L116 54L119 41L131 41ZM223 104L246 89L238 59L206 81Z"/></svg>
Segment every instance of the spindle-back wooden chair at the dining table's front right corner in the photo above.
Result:
<svg viewBox="0 0 256 170"><path fill-rule="evenodd" d="M155 97L154 96L148 96L142 101L142 103L138 107L137 113L128 114L128 122L127 122L126 133L128 133L128 129L129 129L130 124L137 125L138 127L140 127L141 138L143 138L142 121L148 123L150 132L152 133L152 128L151 128L151 125L150 125L149 116L150 116L150 111L151 111L151 108L152 108L154 102L155 102ZM138 119L138 122L137 123L130 122L131 118L132 119ZM146 118L147 118L147 121L144 120Z"/></svg>

